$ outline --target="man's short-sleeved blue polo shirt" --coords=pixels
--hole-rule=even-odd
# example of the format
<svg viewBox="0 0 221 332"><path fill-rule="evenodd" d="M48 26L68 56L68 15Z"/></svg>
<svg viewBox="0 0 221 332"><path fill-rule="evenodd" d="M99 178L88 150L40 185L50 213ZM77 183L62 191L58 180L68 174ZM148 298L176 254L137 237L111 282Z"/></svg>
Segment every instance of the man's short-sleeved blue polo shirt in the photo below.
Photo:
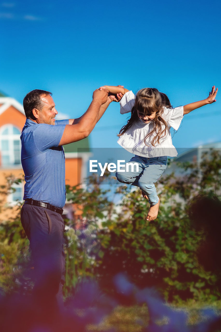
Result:
<svg viewBox="0 0 221 332"><path fill-rule="evenodd" d="M65 205L65 158L58 146L68 120L55 125L37 124L27 119L22 129L22 167L25 173L24 200Z"/></svg>

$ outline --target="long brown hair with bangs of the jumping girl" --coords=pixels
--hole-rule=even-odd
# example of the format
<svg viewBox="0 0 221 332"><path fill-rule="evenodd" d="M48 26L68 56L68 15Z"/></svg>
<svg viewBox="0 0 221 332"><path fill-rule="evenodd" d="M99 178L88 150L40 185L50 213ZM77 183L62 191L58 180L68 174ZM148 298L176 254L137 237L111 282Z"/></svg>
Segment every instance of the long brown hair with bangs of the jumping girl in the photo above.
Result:
<svg viewBox="0 0 221 332"><path fill-rule="evenodd" d="M155 134L151 144L153 146L155 146L156 143L159 144L160 139L165 139L166 134L169 131L166 121L162 118L164 106L172 108L170 100L165 93L161 93L155 88L144 88L139 90L135 98L135 104L131 110L131 117L127 121L127 124L120 129L117 136L123 135L132 126L132 124L139 119L137 111L144 113L147 116L156 112L154 118L154 128L144 137L144 143L146 144L148 137ZM165 128L163 128L163 126L165 126Z"/></svg>

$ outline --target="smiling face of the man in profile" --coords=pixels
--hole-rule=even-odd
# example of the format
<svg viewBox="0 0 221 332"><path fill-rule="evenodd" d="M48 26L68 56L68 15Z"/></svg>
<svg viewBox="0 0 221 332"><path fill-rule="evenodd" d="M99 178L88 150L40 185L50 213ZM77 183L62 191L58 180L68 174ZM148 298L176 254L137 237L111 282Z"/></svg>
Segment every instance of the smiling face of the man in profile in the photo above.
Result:
<svg viewBox="0 0 221 332"><path fill-rule="evenodd" d="M50 95L42 95L40 98L44 106L39 112L37 123L54 125L57 111L55 109L53 98Z"/></svg>

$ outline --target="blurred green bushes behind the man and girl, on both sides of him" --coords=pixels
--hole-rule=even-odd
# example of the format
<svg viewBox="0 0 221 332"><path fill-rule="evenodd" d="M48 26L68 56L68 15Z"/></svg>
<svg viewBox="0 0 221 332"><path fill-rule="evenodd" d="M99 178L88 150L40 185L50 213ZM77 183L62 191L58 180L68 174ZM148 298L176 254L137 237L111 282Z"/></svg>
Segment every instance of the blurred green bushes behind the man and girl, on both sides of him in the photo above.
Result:
<svg viewBox="0 0 221 332"><path fill-rule="evenodd" d="M123 272L137 287L155 287L168 301L217 300L220 269L209 271L198 262L200 244L207 246L208 229L194 227L190 206L199 196L220 199L220 157L219 151L211 150L202 155L200 164L177 165L175 172L163 175L156 186L161 204L154 222L146 221L149 204L140 190L119 186L110 173L90 176L87 189L68 186L67 203L82 213L74 216L74 222L66 220L65 296L71 296L79 281L88 277L96 278L111 293L113 277ZM119 198L118 204L113 203L113 196ZM206 214L207 207L204 209ZM209 222L216 217L211 214ZM19 266L27 252L19 217L13 222L1 224L2 247L11 250L11 254L3 253L10 262L1 259L0 265L0 282L6 291L15 285L13 266ZM17 233L16 240L11 232ZM12 267L8 272L6 265ZM6 286L9 276L11 284L8 281Z"/></svg>

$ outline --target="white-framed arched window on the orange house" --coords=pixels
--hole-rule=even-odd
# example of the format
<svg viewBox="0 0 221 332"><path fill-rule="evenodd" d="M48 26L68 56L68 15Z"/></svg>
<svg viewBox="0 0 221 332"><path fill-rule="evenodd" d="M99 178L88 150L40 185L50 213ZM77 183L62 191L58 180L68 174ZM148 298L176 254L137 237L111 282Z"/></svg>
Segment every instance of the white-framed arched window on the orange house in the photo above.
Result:
<svg viewBox="0 0 221 332"><path fill-rule="evenodd" d="M12 124L0 128L1 165L21 165L21 132Z"/></svg>

